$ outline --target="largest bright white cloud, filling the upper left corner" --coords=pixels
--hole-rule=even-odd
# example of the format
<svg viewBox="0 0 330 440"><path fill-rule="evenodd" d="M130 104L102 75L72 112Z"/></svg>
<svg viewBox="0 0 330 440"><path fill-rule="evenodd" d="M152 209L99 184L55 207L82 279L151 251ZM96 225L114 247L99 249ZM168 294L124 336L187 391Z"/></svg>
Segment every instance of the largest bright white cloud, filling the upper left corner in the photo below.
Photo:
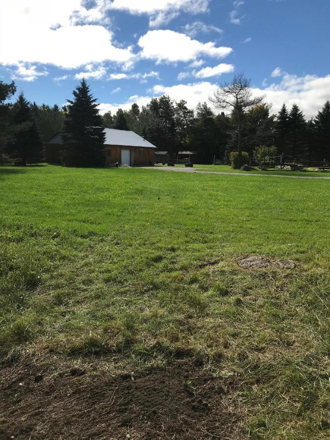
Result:
<svg viewBox="0 0 330 440"><path fill-rule="evenodd" d="M11 0L0 2L0 64L51 64L77 68L88 63L127 63L131 47L115 47L112 32L95 24L106 21L102 6L85 9L80 0ZM26 5L28 4L28 6ZM79 25L75 25L79 23Z"/></svg>

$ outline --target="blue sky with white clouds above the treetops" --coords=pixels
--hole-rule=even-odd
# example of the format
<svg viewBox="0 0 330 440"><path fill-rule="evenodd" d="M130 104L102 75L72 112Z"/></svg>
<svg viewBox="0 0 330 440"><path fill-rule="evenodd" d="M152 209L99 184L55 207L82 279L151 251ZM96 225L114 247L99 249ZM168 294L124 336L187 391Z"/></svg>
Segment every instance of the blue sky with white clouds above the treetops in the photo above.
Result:
<svg viewBox="0 0 330 440"><path fill-rule="evenodd" d="M243 71L278 111L330 99L329 0L1 0L0 79L62 106L85 76L100 111L169 94L192 108Z"/></svg>

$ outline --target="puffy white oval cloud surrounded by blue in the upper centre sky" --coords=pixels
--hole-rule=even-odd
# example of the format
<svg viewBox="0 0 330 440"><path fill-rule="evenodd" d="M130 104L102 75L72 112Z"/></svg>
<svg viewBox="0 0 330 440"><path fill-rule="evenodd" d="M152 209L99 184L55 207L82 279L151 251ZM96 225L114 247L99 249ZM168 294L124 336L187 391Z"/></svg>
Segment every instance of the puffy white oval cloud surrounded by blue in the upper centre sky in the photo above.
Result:
<svg viewBox="0 0 330 440"><path fill-rule="evenodd" d="M141 58L155 60L157 63L187 62L199 55L224 58L232 52L231 47L216 47L215 43L200 43L185 34L172 30L148 31L139 41Z"/></svg>

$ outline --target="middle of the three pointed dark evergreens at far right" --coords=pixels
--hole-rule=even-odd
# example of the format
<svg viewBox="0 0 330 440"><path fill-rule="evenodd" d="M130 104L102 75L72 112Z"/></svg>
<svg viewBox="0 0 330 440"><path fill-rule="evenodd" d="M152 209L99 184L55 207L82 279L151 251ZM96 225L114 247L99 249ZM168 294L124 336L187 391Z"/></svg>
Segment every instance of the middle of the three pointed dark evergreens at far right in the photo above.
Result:
<svg viewBox="0 0 330 440"><path fill-rule="evenodd" d="M289 155L302 158L307 153L306 130L307 124L303 112L297 104L293 104L288 119Z"/></svg>

